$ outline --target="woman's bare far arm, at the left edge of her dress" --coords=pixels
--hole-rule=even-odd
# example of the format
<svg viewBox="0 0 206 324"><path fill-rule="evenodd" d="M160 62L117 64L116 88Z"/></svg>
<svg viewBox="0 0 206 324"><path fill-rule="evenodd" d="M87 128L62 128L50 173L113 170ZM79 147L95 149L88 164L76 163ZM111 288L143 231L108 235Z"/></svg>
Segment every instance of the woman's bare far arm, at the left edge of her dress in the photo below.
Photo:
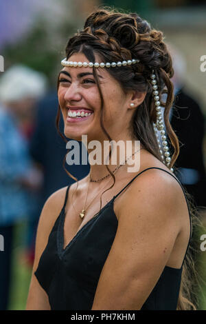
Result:
<svg viewBox="0 0 206 324"><path fill-rule="evenodd" d="M66 189L67 187L62 188L49 196L41 212L36 233L34 266L32 270L30 290L27 297L26 310L50 310L48 296L45 290L43 290L41 285L38 283L34 272L38 267L38 261L41 258L41 254L43 253L43 250L45 250L52 227L62 209L62 205L65 201Z"/></svg>

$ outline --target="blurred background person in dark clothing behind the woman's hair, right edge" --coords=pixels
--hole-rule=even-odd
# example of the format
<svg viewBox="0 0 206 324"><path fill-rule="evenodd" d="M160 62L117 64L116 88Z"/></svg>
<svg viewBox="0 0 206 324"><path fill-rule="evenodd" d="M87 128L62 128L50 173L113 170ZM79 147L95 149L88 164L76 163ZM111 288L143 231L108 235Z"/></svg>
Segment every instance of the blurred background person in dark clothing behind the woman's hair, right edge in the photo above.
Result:
<svg viewBox="0 0 206 324"><path fill-rule="evenodd" d="M206 208L206 172L203 154L205 116L198 100L185 87L186 61L183 54L169 45L174 66L174 105L170 110L170 123L180 142L176 159L176 176L194 197L200 212Z"/></svg>

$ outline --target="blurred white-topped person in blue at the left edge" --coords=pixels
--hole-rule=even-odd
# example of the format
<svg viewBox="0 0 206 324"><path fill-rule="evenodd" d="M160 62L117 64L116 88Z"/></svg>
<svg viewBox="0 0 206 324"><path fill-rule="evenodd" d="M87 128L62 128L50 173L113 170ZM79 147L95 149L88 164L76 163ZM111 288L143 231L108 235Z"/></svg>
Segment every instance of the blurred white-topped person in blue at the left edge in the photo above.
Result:
<svg viewBox="0 0 206 324"><path fill-rule="evenodd" d="M28 141L36 100L46 78L23 65L14 65L0 79L0 310L7 310L14 225L36 217L42 175L29 154Z"/></svg>

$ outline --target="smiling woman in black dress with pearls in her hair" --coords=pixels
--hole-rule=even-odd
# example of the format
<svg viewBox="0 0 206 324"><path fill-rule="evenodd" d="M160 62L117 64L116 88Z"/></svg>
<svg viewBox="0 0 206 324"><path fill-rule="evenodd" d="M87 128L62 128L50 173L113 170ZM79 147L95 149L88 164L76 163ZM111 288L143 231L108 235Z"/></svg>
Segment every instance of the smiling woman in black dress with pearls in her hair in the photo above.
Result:
<svg viewBox="0 0 206 324"><path fill-rule="evenodd" d="M97 10L69 39L61 63L62 138L87 135L102 148L106 140L132 141L133 154L111 165L109 152L108 165L91 165L88 176L47 199L27 310L193 308L187 272L195 215L173 174L179 142L168 119L173 69L163 34L135 13ZM139 152L139 171L127 172Z"/></svg>

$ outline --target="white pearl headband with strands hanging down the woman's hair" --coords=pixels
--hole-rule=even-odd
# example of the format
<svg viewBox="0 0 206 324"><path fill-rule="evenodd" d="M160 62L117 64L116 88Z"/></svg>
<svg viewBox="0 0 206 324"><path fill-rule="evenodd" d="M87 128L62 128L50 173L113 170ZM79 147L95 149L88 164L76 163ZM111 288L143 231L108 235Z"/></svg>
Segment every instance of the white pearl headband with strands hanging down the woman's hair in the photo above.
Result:
<svg viewBox="0 0 206 324"><path fill-rule="evenodd" d="M61 65L67 66L69 68L115 68L115 67L120 67L120 66L126 66L126 65L133 65L139 63L139 59L132 59L132 60L127 60L127 61L118 61L116 62L73 62L73 61L67 61L67 58L62 59ZM152 74L150 75L151 79L151 84L152 84L152 89L154 90L152 93L152 96L155 100L155 105L156 105L156 111L157 111L157 121L156 123L153 123L153 128L157 137L157 143L159 145L159 152L161 154L161 159L163 160L163 163L167 163L168 168L170 167L170 152L168 148L168 142L166 141L166 136L165 136L165 130L164 130L164 124L163 124L163 118L162 118L162 113L161 113L161 103L159 101L159 91L158 91L158 86L157 86L157 81L156 81L156 75L154 73L154 70L152 70ZM132 107L132 105L131 105ZM161 144L159 140L159 132L161 136ZM173 168L170 168L170 171L174 172Z"/></svg>

